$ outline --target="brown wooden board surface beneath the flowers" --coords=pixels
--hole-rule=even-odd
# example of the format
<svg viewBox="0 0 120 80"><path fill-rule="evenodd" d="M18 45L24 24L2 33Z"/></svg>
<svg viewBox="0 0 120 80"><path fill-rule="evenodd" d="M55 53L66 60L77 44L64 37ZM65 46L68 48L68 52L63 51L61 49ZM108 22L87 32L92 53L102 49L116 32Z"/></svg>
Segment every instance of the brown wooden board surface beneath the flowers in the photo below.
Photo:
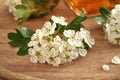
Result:
<svg viewBox="0 0 120 80"><path fill-rule="evenodd" d="M105 38L102 26L89 18L83 22L95 38L95 45L89 49L86 57L79 57L72 64L53 67L48 64L32 64L29 56L17 56L18 48L8 45L7 34L17 28L17 21L8 12L0 0L0 80L120 80L120 65L111 64L111 58L120 56L120 46L111 45ZM30 29L40 28L52 15L64 16L70 22L75 14L66 6L63 0L53 12L42 19L26 21L23 26ZM109 71L103 71L101 66L108 64Z"/></svg>

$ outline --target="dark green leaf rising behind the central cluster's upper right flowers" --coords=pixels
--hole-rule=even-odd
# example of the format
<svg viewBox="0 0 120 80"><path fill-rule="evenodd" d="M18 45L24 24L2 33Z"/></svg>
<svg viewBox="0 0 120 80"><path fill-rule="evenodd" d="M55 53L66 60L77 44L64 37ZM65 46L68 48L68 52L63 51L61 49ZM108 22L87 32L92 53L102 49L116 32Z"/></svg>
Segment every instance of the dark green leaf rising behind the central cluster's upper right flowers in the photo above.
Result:
<svg viewBox="0 0 120 80"><path fill-rule="evenodd" d="M81 22L84 21L87 17L84 15L77 16L68 26L67 29L80 30L81 27L84 27Z"/></svg>

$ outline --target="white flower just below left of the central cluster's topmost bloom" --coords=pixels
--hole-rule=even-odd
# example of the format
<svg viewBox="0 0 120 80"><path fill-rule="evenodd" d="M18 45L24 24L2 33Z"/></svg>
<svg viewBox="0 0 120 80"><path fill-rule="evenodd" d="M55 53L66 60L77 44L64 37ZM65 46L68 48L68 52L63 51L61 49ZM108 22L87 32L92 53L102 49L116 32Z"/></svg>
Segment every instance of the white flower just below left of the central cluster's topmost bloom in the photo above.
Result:
<svg viewBox="0 0 120 80"><path fill-rule="evenodd" d="M44 36L48 36L55 32L56 24L51 24L50 22L46 22L42 28L42 33Z"/></svg>

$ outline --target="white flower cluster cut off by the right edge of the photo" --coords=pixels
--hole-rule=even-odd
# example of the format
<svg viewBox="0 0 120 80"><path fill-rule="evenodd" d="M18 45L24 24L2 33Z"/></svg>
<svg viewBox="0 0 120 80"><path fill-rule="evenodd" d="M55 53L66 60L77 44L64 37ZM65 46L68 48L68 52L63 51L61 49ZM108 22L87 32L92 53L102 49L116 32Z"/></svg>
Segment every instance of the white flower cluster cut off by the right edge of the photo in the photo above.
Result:
<svg viewBox="0 0 120 80"><path fill-rule="evenodd" d="M110 43L120 45L120 5L116 5L111 11L105 25L105 32Z"/></svg>

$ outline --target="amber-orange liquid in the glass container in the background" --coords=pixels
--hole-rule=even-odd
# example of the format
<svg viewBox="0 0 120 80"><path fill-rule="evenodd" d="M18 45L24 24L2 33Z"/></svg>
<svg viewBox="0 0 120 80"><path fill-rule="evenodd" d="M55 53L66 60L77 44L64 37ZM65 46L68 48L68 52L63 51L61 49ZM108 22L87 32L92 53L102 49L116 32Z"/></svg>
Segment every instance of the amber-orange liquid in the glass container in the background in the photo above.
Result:
<svg viewBox="0 0 120 80"><path fill-rule="evenodd" d="M120 0L66 0L70 8L80 15L82 8L87 11L87 15L99 14L99 7L105 6L109 10L114 8L115 4L119 4Z"/></svg>

